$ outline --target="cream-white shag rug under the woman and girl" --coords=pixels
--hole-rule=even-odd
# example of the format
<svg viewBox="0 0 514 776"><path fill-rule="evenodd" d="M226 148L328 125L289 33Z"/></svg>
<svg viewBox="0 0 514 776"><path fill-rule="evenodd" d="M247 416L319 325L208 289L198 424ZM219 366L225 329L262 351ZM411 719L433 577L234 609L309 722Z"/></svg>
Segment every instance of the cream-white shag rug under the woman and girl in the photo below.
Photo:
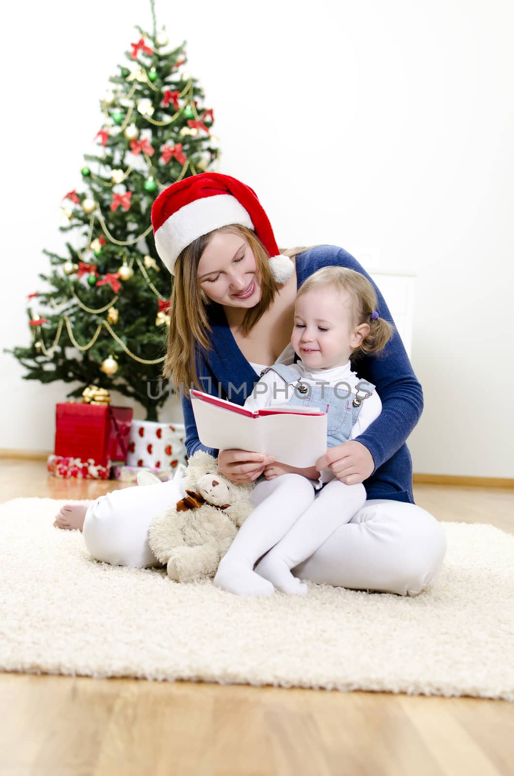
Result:
<svg viewBox="0 0 514 776"><path fill-rule="evenodd" d="M64 501L0 506L0 670L514 700L514 536L443 523L414 597L307 583L236 596L93 560Z"/></svg>

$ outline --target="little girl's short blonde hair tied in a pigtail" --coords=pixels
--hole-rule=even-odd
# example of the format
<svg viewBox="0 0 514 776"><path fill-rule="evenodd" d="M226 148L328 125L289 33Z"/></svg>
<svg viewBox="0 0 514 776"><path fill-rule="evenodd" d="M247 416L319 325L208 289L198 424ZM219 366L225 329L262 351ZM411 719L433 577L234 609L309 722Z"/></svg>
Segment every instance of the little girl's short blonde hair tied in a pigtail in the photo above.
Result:
<svg viewBox="0 0 514 776"><path fill-rule="evenodd" d="M351 359L362 358L363 355L377 353L383 350L395 331L395 328L384 318L373 320L371 314L377 310L378 300L375 289L370 281L347 267L323 267L318 269L304 281L297 293L297 299L313 289L339 286L346 289L353 301L353 327L368 324L370 333L363 337L358 347L353 349Z"/></svg>

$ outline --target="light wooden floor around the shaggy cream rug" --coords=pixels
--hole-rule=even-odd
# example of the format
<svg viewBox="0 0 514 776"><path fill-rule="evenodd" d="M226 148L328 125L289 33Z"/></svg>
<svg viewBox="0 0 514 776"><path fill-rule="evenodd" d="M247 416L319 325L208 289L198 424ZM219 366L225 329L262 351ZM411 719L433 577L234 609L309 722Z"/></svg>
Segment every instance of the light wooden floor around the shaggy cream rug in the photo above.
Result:
<svg viewBox="0 0 514 776"><path fill-rule="evenodd" d="M116 484L0 460L1 501ZM415 500L514 533L514 490L418 485ZM481 698L0 674L0 719L2 776L514 774L514 704Z"/></svg>

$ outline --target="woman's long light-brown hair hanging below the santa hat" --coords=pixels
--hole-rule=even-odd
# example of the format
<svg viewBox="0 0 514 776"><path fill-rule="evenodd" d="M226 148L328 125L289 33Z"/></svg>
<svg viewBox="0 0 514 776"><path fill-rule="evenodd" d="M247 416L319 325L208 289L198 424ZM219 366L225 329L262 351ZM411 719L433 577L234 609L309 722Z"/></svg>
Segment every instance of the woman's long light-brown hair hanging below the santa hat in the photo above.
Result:
<svg viewBox="0 0 514 776"><path fill-rule="evenodd" d="M168 348L162 368L162 376L172 382L175 391L182 391L189 397L189 387L205 390L200 383L195 357L195 343L207 351L210 348L211 327L208 309L214 304L200 289L198 265L203 251L216 232L239 234L252 248L257 270L261 277L261 298L255 307L250 307L241 323L241 331L248 334L257 321L268 310L279 288L269 269L269 254L259 237L247 227L234 223L221 227L209 234L203 234L179 254L175 262L175 276L172 279L172 295L169 306ZM307 248L292 248L281 251L283 255L295 256ZM203 375L200 375L203 377Z"/></svg>

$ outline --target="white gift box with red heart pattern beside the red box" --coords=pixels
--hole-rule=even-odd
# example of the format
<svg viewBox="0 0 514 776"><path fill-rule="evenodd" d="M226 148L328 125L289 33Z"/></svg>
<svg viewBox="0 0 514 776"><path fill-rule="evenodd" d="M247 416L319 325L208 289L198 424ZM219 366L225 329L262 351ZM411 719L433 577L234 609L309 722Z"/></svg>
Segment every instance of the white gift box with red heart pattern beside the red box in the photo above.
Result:
<svg viewBox="0 0 514 776"><path fill-rule="evenodd" d="M183 423L132 421L127 453L127 466L149 466L168 471L186 463Z"/></svg>

